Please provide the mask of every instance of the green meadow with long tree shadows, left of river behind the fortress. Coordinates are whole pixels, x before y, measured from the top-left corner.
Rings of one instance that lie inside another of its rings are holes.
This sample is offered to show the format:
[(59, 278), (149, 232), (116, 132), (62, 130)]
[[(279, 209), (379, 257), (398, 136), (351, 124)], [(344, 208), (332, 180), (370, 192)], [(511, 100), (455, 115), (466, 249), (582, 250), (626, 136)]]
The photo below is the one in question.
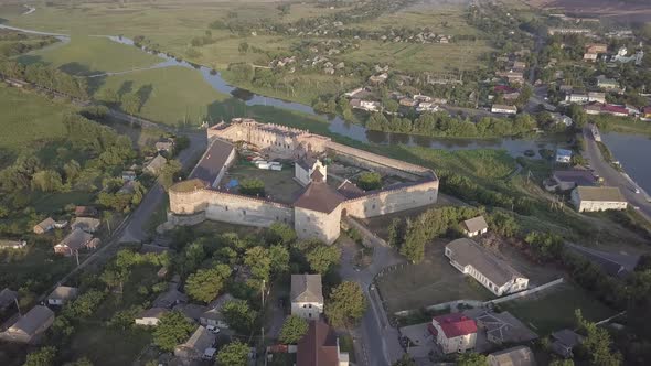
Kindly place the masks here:
[(139, 116), (166, 125), (188, 120), (198, 126), (213, 105), (226, 99), (194, 69), (172, 66), (93, 79), (95, 98), (103, 100), (107, 88), (141, 95)]

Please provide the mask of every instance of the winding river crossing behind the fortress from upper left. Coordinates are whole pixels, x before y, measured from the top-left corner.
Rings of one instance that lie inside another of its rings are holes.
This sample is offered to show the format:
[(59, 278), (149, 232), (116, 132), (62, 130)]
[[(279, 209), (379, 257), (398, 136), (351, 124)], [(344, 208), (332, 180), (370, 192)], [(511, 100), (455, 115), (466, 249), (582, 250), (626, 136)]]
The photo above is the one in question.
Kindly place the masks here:
[[(23, 30), (19, 28), (8, 26), (0, 24), (0, 28), (23, 31), (33, 34), (43, 34), (43, 35), (54, 35), (57, 36), (63, 42), (68, 42), (70, 36), (65, 34), (56, 34), (56, 33), (47, 33), (47, 32), (39, 32), (39, 31), (31, 31), (31, 30)], [(104, 35), (102, 35), (104, 36)], [(134, 46), (134, 41), (124, 37), (124, 36), (106, 36), (109, 40)], [(143, 52), (149, 52), (142, 50)], [(403, 133), (386, 133), (381, 131), (370, 131), (366, 130), (363, 126), (350, 123), (343, 120), (339, 116), (326, 116), (318, 114), (311, 106), (302, 105), (299, 103), (287, 101), (278, 98), (271, 98), (263, 95), (258, 95), (255, 93), (250, 93), (247, 90), (243, 90), (235, 86), (230, 85), (218, 72), (214, 72), (210, 67), (201, 66), (191, 64), (186, 61), (177, 61), (174, 57), (168, 56), (164, 53), (157, 53), (159, 57), (162, 58), (162, 62), (156, 64), (153, 66), (149, 66), (146, 68), (135, 69), (135, 71), (126, 71), (122, 73), (107, 73), (107, 74), (98, 74), (90, 77), (104, 76), (104, 75), (117, 75), (117, 74), (126, 74), (126, 73), (134, 73), (141, 69), (150, 69), (150, 68), (161, 68), (161, 67), (170, 67), (170, 66), (181, 66), (186, 68), (196, 69), (198, 73), (201, 73), (203, 79), (209, 83), (215, 90), (233, 95), (242, 99), (246, 103), (247, 106), (271, 106), (277, 108), (284, 108), (295, 111), (300, 111), (311, 116), (319, 116), (327, 120), (330, 123), (330, 131), (333, 133), (338, 133), (341, 136), (345, 136), (351, 138), (355, 141), (360, 142), (370, 142), (370, 143), (377, 143), (377, 144), (406, 144), (406, 146), (418, 146), (424, 148), (430, 149), (445, 149), (445, 150), (472, 150), (472, 149), (499, 149), (505, 150), (513, 157), (523, 155), (526, 150), (533, 150), (536, 157), (540, 157), (538, 150), (541, 149), (552, 149), (555, 150), (559, 147), (566, 147), (566, 143), (563, 141), (558, 141), (554, 138), (535, 138), (535, 139), (513, 139), (513, 138), (503, 138), (503, 139), (459, 139), (459, 138), (431, 138), (431, 137), (424, 137), (424, 136), (410, 136), (410, 134), (403, 134)]]

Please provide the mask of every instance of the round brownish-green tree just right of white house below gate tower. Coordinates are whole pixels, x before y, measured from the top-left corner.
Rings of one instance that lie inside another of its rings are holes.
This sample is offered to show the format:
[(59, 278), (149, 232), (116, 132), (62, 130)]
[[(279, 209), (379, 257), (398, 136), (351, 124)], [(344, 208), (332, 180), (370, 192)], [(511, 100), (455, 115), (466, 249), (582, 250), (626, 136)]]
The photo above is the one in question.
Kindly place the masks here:
[(333, 326), (354, 325), (366, 312), (366, 298), (359, 283), (344, 281), (330, 292), (326, 315)]

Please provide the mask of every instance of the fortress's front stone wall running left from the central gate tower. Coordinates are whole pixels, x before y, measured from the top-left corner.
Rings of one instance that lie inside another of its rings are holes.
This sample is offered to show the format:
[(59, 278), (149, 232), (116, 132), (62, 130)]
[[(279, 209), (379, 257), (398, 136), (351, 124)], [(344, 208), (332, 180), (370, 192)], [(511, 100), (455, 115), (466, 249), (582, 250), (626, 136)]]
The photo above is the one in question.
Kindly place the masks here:
[(170, 212), (180, 217), (203, 212), (206, 219), (263, 227), (275, 222), (294, 224), (290, 206), (210, 190), (170, 191)]

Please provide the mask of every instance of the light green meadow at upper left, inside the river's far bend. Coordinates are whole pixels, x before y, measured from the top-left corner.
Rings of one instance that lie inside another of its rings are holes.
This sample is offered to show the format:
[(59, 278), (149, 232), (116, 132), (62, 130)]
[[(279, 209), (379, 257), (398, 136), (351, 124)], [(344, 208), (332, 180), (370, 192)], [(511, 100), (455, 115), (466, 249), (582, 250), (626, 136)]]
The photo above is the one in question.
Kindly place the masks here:
[(25, 64), (43, 62), (72, 75), (125, 72), (154, 65), (162, 58), (105, 37), (76, 35), (60, 47), (34, 51), (19, 57)]

